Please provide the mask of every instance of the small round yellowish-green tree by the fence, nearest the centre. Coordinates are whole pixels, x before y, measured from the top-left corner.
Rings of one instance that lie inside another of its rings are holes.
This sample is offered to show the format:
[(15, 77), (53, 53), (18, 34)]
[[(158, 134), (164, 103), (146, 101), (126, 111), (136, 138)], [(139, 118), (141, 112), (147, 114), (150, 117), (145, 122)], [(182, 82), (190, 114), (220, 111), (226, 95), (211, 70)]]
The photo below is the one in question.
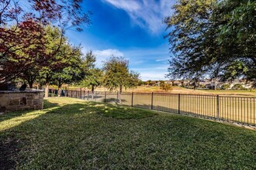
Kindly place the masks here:
[(136, 87), (139, 74), (129, 71), (129, 62), (122, 57), (112, 56), (103, 64), (104, 78), (103, 85), (109, 90), (119, 90), (122, 93), (123, 87)]

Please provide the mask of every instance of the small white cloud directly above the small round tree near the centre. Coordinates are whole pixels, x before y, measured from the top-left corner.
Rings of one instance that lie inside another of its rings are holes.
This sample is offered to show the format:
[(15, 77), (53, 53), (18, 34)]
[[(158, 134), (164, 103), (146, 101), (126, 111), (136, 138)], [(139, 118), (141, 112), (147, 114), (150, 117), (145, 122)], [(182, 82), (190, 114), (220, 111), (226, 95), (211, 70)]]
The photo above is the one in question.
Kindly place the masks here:
[(92, 53), (96, 56), (96, 66), (102, 66), (102, 62), (111, 56), (124, 56), (118, 49), (95, 50)]

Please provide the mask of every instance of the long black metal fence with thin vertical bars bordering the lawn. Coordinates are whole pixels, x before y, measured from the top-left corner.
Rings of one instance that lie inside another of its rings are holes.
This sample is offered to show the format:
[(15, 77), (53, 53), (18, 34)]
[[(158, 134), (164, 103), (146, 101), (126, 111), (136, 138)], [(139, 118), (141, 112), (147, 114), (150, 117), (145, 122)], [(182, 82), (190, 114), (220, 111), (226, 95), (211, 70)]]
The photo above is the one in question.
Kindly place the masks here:
[[(50, 97), (57, 90), (50, 90)], [(219, 95), (178, 93), (115, 93), (85, 90), (66, 90), (62, 96), (105, 103), (123, 104), (175, 114), (189, 114), (218, 121), (255, 126), (256, 97), (227, 97)]]

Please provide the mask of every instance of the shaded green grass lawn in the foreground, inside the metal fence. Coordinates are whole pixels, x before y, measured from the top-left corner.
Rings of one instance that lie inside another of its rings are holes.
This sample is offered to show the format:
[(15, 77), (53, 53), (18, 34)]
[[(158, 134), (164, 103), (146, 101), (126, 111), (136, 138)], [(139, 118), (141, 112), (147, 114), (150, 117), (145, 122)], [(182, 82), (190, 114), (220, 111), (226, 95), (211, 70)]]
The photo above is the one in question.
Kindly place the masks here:
[(0, 115), (1, 168), (255, 169), (256, 131), (55, 97)]

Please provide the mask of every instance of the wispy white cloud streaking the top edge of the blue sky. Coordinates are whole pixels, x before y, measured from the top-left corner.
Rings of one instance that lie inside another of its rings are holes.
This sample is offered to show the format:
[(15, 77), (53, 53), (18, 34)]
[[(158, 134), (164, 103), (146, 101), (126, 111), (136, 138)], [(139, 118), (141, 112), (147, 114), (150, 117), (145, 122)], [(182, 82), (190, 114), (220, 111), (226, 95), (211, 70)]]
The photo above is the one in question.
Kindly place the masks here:
[(105, 0), (105, 2), (124, 10), (132, 21), (143, 29), (157, 33), (164, 28), (164, 17), (171, 15), (175, 0)]

